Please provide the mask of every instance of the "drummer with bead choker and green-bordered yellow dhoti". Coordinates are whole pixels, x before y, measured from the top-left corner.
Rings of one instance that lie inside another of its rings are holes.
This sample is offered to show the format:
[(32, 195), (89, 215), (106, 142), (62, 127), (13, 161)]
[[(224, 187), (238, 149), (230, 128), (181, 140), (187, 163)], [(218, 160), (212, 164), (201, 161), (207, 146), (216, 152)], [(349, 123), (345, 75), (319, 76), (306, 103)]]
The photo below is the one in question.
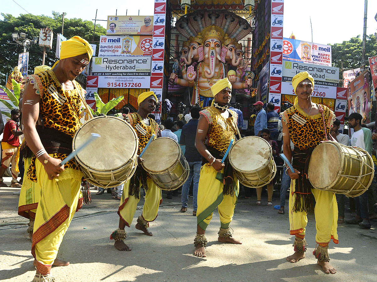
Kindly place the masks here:
[[(242, 244), (232, 237), (229, 224), (233, 218), (236, 206), (239, 183), (233, 174), (231, 165), (226, 161), (221, 163), (224, 152), (231, 139), (234, 138), (237, 127), (237, 114), (229, 110), (231, 98), (231, 83), (228, 78), (218, 80), (211, 87), (214, 103), (200, 112), (196, 132), (195, 147), (203, 156), (203, 166), (200, 171), (198, 187), (197, 232), (194, 239), (194, 255), (205, 257), (205, 229), (212, 219), (212, 213), (218, 208), (221, 227), (218, 241), (222, 243)], [(208, 146), (205, 145), (209, 136)], [(218, 177), (218, 174), (220, 176)], [(223, 181), (225, 180), (225, 184)]]

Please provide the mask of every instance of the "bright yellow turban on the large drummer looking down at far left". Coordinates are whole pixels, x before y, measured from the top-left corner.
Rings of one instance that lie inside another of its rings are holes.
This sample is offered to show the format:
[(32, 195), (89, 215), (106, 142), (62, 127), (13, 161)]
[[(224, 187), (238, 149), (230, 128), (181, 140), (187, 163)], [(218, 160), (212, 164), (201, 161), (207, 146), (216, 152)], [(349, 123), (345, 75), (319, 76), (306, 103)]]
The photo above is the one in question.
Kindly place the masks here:
[[(66, 41), (61, 42), (60, 59), (72, 58), (78, 55), (88, 54), (89, 61), (93, 56), (93, 49), (89, 42), (80, 36), (74, 36)], [(52, 66), (54, 68), (59, 61)]]

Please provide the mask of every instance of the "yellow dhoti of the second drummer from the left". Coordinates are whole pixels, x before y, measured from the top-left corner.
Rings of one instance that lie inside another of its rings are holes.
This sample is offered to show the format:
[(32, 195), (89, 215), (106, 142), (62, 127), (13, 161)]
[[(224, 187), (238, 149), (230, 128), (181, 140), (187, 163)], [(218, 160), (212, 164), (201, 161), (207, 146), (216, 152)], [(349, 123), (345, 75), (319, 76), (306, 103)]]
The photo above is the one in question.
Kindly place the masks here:
[[(145, 202), (141, 216), (144, 218), (145, 221), (148, 221), (149, 226), (149, 222), (155, 220), (157, 217), (158, 207), (162, 203), (162, 193), (161, 189), (157, 187), (157, 185), (153, 182), (152, 179), (147, 179), (147, 186), (148, 189), (145, 193)], [(130, 224), (132, 223), (137, 205), (140, 201), (140, 195), (138, 199), (135, 197), (135, 195), (130, 196), (129, 191), (130, 180), (128, 180), (124, 184), (123, 194), (118, 209), (118, 215), (120, 216), (121, 220), (123, 220), (126, 223), (126, 226), (128, 227), (130, 227)]]

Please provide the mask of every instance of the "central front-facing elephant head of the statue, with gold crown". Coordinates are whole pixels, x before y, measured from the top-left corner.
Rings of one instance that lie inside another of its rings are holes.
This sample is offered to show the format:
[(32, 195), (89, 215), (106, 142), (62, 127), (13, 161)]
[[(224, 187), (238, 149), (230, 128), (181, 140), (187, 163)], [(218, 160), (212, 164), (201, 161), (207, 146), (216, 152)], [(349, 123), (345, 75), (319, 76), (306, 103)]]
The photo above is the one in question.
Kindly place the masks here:
[(209, 65), (209, 69), (204, 71), (206, 78), (215, 76), (216, 65), (225, 61), (226, 47), (222, 48), (221, 41), (224, 38), (224, 30), (221, 27), (212, 25), (202, 30), (204, 38), (204, 62)]

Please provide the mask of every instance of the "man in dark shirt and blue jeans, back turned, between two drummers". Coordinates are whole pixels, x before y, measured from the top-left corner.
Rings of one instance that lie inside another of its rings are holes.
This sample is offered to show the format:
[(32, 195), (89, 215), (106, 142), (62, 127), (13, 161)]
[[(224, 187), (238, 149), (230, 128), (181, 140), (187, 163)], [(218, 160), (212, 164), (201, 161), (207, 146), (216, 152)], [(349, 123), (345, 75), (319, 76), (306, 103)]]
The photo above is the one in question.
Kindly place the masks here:
[(199, 112), (202, 109), (199, 106), (194, 106), (190, 110), (192, 120), (186, 123), (181, 132), (181, 138), (179, 140), (179, 145), (185, 146), (185, 158), (189, 163), (190, 173), (189, 178), (182, 186), (182, 208), (181, 212), (187, 211), (187, 202), (189, 200), (189, 189), (192, 179), (194, 179), (193, 185), (193, 213), (196, 216), (196, 209), (198, 208), (198, 185), (199, 185), (199, 174), (202, 167), (202, 155), (196, 150), (195, 147), (195, 137), (196, 128), (198, 127)]

